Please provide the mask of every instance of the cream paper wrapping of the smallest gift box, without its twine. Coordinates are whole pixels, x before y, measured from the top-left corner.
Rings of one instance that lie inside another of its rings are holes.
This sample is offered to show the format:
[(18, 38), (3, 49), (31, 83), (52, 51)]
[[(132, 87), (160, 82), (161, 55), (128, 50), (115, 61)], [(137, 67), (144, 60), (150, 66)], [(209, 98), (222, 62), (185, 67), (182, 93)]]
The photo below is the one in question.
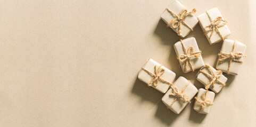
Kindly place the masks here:
[[(200, 88), (197, 92), (196, 98), (199, 98), (199, 99), (203, 100), (202, 95), (205, 94), (205, 92), (207, 92), (207, 90), (205, 90), (203, 88)], [(209, 101), (211, 101), (211, 103), (213, 103), (214, 96), (215, 96), (215, 94), (213, 92), (208, 91), (207, 96), (206, 96), (206, 100), (210, 99)], [(193, 108), (198, 113), (208, 114), (211, 110), (211, 105), (208, 105), (208, 106), (206, 106), (205, 108), (203, 108), (201, 110), (201, 103), (199, 101), (195, 101), (195, 104), (194, 104)]]

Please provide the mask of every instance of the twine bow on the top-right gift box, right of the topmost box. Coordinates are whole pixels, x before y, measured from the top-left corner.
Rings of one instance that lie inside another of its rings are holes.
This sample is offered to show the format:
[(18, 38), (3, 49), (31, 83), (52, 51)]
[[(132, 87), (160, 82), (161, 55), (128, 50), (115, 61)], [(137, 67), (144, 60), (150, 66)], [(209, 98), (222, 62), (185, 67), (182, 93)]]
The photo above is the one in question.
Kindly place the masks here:
[(223, 20), (221, 16), (216, 17), (216, 19), (214, 19), (214, 21), (212, 21), (212, 19), (211, 19), (210, 15), (208, 14), (208, 12), (206, 12), (206, 13), (207, 13), (207, 15), (208, 15), (208, 17), (209, 17), (209, 19), (211, 21), (211, 24), (205, 26), (204, 33), (211, 32), (211, 35), (209, 37), (209, 39), (210, 39), (212, 37), (213, 32), (216, 31), (220, 35), (221, 39), (224, 40), (225, 38), (223, 37), (222, 34), (220, 34), (220, 31), (219, 31), (218, 28), (226, 25), (228, 22), (226, 20)]

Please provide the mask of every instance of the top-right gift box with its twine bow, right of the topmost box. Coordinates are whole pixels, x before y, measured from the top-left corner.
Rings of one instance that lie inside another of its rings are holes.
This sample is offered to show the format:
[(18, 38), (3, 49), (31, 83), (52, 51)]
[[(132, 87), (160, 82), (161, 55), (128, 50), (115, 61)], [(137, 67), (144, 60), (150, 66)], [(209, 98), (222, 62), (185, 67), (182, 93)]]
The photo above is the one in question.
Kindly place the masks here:
[(222, 18), (217, 7), (199, 15), (197, 18), (210, 44), (218, 43), (230, 35), (227, 21)]

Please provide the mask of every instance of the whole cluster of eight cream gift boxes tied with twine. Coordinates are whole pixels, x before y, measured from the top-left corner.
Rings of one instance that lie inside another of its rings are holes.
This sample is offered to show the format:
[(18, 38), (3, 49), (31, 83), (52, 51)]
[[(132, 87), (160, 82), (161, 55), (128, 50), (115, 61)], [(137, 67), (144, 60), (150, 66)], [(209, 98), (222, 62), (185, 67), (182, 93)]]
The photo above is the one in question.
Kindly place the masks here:
[(176, 114), (191, 103), (193, 98), (195, 98), (194, 110), (201, 114), (208, 114), (213, 105), (215, 93), (220, 92), (228, 80), (222, 72), (238, 75), (243, 57), (246, 57), (244, 56), (245, 44), (226, 39), (230, 31), (227, 21), (222, 18), (217, 7), (197, 18), (192, 15), (195, 12), (196, 10), (189, 12), (180, 2), (174, 1), (164, 10), (161, 19), (182, 38), (186, 37), (199, 22), (210, 44), (223, 41), (216, 69), (204, 64), (202, 52), (195, 38), (187, 38), (174, 44), (182, 71), (187, 73), (200, 69), (196, 79), (202, 83), (204, 88), (197, 89), (189, 80), (181, 76), (174, 81), (175, 72), (152, 59), (147, 60), (138, 74), (138, 79), (164, 93), (162, 102)]

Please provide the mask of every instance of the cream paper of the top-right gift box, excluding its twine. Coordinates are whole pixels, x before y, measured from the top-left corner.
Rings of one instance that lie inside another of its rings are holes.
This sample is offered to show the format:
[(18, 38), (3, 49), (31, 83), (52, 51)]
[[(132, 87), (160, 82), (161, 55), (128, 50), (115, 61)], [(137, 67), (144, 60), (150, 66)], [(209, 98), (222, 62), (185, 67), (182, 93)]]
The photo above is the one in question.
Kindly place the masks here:
[[(207, 13), (209, 14), (210, 17), (208, 16)], [(218, 17), (218, 16), (222, 17), (217, 7), (214, 7), (211, 10), (208, 10), (207, 13), (205, 12), (205, 13), (197, 16), (197, 19), (199, 20), (199, 24), (200, 24), (203, 32), (205, 32), (204, 28), (211, 24), (211, 21), (209, 18), (211, 18), (212, 21), (214, 21), (216, 19), (216, 17)], [(223, 20), (223, 18), (222, 18), (222, 20)], [(219, 23), (220, 23), (219, 25), (221, 25), (224, 22), (221, 21)], [(230, 31), (229, 31), (227, 25), (223, 25), (223, 26), (219, 27), (218, 30), (224, 38), (226, 38), (226, 37), (228, 37), (228, 35), (230, 35)], [(211, 32), (205, 33), (205, 36), (207, 37), (210, 44), (214, 44), (214, 43), (220, 42), (221, 40), (224, 40), (221, 38), (220, 34), (215, 29), (213, 31), (211, 38), (209, 38), (211, 35)]]

